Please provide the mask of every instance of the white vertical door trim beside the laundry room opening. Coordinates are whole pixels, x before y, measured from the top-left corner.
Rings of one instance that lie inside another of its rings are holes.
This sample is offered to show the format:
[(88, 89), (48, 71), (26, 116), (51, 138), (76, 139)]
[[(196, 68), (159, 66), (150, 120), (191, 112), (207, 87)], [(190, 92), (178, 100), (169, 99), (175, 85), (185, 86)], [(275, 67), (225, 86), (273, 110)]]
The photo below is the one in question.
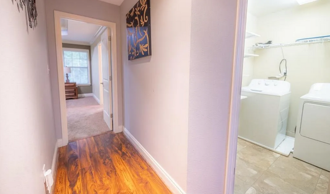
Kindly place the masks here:
[(225, 194), (234, 193), (235, 168), (237, 156), (237, 139), (239, 113), (241, 105), (242, 73), (244, 60), (245, 28), (247, 17), (247, 0), (237, 0), (236, 35), (233, 64), (232, 93), (230, 101), (229, 128), (227, 137), (227, 161), (225, 173)]

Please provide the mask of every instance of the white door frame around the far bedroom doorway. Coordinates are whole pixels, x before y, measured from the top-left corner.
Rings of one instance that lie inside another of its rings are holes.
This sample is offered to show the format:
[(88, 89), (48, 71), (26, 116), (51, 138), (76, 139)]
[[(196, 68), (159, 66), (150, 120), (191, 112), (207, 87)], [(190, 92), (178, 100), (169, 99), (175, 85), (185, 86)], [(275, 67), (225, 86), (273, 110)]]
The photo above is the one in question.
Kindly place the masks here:
[(98, 20), (94, 18), (84, 17), (75, 14), (69, 14), (60, 11), (54, 11), (55, 22), (55, 41), (56, 41), (56, 59), (57, 59), (57, 78), (58, 78), (58, 94), (60, 101), (60, 114), (61, 114), (61, 128), (62, 128), (62, 145), (69, 143), (68, 138), (68, 120), (67, 120), (67, 107), (65, 103), (65, 88), (64, 88), (64, 70), (63, 70), (63, 52), (62, 52), (62, 36), (60, 18), (71, 19), (81, 22), (93, 23), (97, 25), (107, 26), (110, 29), (111, 36), (111, 76), (112, 76), (112, 113), (113, 113), (113, 131), (115, 133), (122, 132), (119, 127), (118, 115), (118, 72), (117, 72), (117, 28), (116, 23)]

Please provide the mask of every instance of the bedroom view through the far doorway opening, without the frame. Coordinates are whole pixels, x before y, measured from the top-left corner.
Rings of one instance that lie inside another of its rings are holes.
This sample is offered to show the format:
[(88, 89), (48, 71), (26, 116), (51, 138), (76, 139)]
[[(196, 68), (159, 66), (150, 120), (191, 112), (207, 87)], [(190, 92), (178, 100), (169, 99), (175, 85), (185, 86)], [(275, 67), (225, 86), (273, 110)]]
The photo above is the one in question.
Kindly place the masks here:
[(103, 74), (111, 65), (107, 27), (61, 18), (61, 37), (69, 141), (111, 131), (112, 102), (103, 100), (111, 82)]

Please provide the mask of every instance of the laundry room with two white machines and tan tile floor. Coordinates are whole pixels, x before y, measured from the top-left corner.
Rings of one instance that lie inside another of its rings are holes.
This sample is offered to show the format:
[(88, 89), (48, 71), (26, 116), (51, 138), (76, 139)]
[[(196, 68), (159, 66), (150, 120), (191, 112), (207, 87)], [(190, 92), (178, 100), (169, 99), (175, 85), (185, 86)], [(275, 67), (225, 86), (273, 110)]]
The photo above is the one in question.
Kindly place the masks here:
[(249, 0), (235, 193), (326, 194), (330, 1)]

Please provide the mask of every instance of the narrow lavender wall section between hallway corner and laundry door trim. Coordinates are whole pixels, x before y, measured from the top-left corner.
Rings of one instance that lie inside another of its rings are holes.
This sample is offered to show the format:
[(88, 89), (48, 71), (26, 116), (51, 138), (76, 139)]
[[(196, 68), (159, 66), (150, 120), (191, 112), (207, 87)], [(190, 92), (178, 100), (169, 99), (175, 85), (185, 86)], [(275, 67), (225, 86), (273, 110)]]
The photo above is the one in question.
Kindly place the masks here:
[(192, 0), (187, 193), (223, 193), (237, 1)]

